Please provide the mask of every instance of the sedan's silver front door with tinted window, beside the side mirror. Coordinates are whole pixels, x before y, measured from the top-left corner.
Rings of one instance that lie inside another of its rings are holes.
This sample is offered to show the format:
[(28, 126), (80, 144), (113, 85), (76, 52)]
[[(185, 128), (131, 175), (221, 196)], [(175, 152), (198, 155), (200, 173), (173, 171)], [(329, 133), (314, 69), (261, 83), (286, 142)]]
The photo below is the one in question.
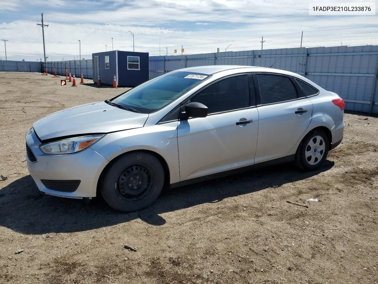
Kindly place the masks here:
[(179, 122), (181, 181), (254, 164), (259, 115), (248, 77), (221, 79), (188, 101), (206, 105), (208, 116)]

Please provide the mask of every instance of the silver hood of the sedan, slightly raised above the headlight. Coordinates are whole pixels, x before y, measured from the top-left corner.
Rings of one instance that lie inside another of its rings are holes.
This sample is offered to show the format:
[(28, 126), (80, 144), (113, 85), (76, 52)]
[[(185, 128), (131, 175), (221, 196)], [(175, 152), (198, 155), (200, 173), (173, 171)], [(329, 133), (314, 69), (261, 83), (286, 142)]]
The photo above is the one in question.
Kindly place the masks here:
[(90, 133), (109, 133), (143, 127), (148, 114), (108, 105), (104, 101), (54, 112), (34, 122), (38, 137), (46, 139)]

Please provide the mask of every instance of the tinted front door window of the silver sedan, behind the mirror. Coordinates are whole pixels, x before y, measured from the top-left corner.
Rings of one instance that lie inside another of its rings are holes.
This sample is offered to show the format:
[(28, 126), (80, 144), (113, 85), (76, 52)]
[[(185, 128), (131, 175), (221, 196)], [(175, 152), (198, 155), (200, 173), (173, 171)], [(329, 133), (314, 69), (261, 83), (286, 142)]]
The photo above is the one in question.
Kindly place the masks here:
[(199, 92), (190, 102), (204, 104), (208, 107), (208, 114), (248, 108), (248, 76), (239, 75), (218, 81)]

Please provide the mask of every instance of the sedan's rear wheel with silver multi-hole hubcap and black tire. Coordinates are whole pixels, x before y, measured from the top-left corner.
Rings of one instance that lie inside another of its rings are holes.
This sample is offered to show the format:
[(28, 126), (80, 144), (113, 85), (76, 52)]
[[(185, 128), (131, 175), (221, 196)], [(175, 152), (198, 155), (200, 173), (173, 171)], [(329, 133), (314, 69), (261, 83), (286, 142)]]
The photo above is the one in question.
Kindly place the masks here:
[(327, 159), (328, 150), (327, 134), (322, 130), (313, 130), (299, 144), (295, 154), (295, 163), (304, 171), (317, 170)]

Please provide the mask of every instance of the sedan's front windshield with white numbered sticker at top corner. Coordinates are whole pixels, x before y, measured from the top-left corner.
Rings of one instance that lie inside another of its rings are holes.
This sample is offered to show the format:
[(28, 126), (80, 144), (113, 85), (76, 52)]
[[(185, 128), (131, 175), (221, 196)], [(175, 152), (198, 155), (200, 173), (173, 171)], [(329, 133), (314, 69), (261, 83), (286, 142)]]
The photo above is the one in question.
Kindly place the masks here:
[(170, 72), (119, 95), (112, 103), (149, 114), (168, 105), (209, 77), (208, 74), (194, 72)]

